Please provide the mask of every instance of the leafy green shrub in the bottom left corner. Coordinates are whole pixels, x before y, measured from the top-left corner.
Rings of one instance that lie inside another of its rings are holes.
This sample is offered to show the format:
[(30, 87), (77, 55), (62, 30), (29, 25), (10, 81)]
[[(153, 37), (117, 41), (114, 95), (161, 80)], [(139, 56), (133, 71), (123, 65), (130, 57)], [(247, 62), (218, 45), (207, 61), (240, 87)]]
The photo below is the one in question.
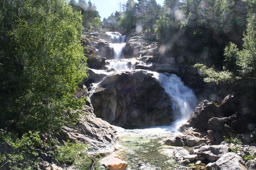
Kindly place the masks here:
[[(4, 154), (0, 156), (0, 165), (10, 169), (24, 169), (32, 166), (38, 156), (37, 148), (42, 143), (39, 132), (29, 131), (19, 139), (13, 134), (0, 135)], [(30, 161), (32, 162), (30, 162)]]

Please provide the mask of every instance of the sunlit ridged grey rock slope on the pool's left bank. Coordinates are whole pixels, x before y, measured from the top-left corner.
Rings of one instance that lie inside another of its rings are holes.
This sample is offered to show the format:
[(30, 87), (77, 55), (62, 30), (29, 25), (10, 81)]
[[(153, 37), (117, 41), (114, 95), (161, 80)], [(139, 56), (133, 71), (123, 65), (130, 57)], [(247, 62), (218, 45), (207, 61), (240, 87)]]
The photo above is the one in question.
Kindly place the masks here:
[[(88, 99), (90, 101), (90, 99)], [(97, 118), (90, 105), (84, 106), (80, 120), (71, 127), (62, 127), (60, 140), (84, 142), (90, 152), (106, 153), (116, 150), (118, 137), (115, 127)]]

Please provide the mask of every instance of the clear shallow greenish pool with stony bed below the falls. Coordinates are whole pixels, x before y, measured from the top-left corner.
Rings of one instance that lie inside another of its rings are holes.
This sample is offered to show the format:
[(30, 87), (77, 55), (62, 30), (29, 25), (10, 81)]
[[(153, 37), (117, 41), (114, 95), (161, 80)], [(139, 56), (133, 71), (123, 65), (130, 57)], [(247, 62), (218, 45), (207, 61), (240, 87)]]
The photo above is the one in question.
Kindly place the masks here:
[(166, 138), (174, 138), (179, 132), (173, 127), (161, 126), (149, 129), (126, 130), (120, 138), (120, 155), (128, 163), (126, 170), (199, 170), (194, 164), (176, 162), (175, 147), (164, 145)]

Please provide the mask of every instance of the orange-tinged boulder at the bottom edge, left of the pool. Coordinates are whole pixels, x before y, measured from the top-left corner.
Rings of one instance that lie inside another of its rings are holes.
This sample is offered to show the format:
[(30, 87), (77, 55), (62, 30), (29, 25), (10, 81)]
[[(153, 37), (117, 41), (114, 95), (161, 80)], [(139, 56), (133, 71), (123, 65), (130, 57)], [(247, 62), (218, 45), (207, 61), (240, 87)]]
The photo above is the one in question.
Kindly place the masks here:
[(108, 168), (108, 170), (126, 170), (127, 162), (125, 162), (120, 156), (116, 154), (110, 154), (109, 156), (100, 160), (100, 164)]

